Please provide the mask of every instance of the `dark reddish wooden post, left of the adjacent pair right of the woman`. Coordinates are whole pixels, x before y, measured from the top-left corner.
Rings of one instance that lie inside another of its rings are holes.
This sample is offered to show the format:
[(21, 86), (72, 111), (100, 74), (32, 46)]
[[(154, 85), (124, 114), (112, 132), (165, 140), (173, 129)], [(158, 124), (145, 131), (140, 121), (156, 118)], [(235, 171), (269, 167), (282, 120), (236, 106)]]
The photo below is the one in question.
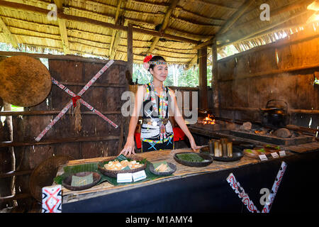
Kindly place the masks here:
[(208, 96), (207, 96), (207, 48), (201, 48), (198, 51), (199, 60), (199, 94), (198, 94), (198, 107), (201, 109), (208, 109)]

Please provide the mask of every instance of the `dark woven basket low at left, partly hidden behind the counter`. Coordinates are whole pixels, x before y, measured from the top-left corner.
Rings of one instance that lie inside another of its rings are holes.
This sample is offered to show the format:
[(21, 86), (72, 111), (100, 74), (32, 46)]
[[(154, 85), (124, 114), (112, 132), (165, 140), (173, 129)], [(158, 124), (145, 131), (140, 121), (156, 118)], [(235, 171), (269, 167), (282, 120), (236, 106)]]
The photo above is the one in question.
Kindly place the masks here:
[(29, 187), (31, 195), (36, 200), (42, 201), (42, 188), (53, 184), (58, 168), (60, 165), (65, 165), (69, 160), (74, 160), (74, 158), (52, 156), (35, 167), (30, 176)]

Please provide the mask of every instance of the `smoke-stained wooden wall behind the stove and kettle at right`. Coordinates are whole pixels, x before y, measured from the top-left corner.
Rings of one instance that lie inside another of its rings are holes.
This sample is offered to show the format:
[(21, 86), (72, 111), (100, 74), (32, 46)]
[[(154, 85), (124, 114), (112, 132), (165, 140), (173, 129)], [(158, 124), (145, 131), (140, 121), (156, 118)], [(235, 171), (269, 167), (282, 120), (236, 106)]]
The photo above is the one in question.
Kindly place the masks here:
[[(261, 121), (259, 112), (251, 108), (264, 108), (270, 99), (282, 99), (294, 110), (291, 124), (308, 127), (311, 119), (311, 128), (317, 128), (317, 113), (298, 113), (319, 110), (319, 86), (313, 84), (319, 72), (319, 38), (318, 31), (308, 29), (291, 35), (289, 43), (278, 42), (219, 60), (220, 116)], [(208, 103), (213, 109), (213, 103)]]

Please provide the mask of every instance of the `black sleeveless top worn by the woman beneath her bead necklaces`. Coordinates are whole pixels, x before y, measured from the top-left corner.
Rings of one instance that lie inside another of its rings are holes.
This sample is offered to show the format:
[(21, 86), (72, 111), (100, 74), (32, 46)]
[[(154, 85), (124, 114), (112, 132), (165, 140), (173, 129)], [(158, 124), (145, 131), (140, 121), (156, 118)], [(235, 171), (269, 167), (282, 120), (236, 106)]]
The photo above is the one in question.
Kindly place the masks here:
[[(159, 96), (157, 96), (157, 94), (155, 94), (156, 97), (156, 104), (157, 104), (157, 112), (153, 111), (153, 105), (152, 105), (152, 101), (151, 101), (151, 97), (150, 97), (150, 91), (151, 91), (151, 87), (150, 84), (146, 84), (148, 87), (148, 97), (145, 101), (143, 101), (143, 115), (142, 118), (159, 118)], [(167, 94), (166, 96), (166, 101), (167, 101), (167, 111), (166, 111), (166, 115), (165, 118), (168, 118), (169, 115), (169, 102), (170, 102), (170, 95), (169, 95), (169, 90), (167, 89), (167, 87), (165, 88), (165, 92)]]

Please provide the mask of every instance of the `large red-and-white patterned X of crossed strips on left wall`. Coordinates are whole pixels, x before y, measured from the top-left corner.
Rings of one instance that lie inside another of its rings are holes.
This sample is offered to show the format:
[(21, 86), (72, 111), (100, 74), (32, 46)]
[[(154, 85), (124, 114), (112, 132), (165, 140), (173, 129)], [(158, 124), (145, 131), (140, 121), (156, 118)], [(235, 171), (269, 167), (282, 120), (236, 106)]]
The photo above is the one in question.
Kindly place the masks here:
[[(99, 77), (101, 77), (101, 74), (103, 74), (103, 72), (105, 72), (108, 67), (110, 67), (113, 64), (113, 60), (110, 60), (106, 63), (106, 65), (103, 66), (103, 68), (101, 68), (101, 70), (96, 73), (96, 75), (94, 77), (92, 77), (92, 79), (82, 88), (82, 90), (78, 93), (78, 94), (74, 94), (74, 92), (72, 92), (71, 90), (67, 89), (67, 87), (65, 87), (65, 85), (60, 84), (60, 82), (57, 82), (57, 80), (55, 80), (53, 77), (51, 77), (51, 81), (57, 85), (57, 87), (60, 87), (63, 91), (67, 92), (67, 94), (69, 94), (72, 97), (76, 97), (76, 96), (82, 96), (84, 94), (84, 92), (86, 92), (87, 89), (89, 89), (89, 87), (91, 87), (91, 85), (96, 82), (96, 79), (99, 79)], [(94, 109), (93, 106), (89, 105), (88, 103), (86, 103), (86, 101), (84, 101), (83, 99), (79, 99), (80, 103), (83, 104), (84, 106), (86, 106), (90, 111), (94, 112), (94, 114), (97, 114), (98, 116), (100, 116), (101, 118), (103, 118), (103, 120), (107, 121), (108, 123), (111, 123), (111, 125), (114, 128), (118, 128), (118, 126), (113, 123), (110, 119), (108, 119), (106, 116), (104, 116), (103, 114), (101, 114), (101, 112), (97, 111), (96, 109)], [(67, 106), (65, 106), (65, 108), (62, 109), (62, 111), (60, 111), (60, 113), (47, 125), (47, 127), (45, 127), (45, 129), (38, 135), (37, 138), (35, 138), (36, 141), (40, 141), (43, 136), (45, 135), (45, 133), (47, 133), (47, 131), (49, 131), (52, 126), (57, 123), (57, 121), (60, 120), (60, 118), (65, 115), (67, 113), (67, 111), (69, 110), (69, 108), (72, 106), (73, 101), (69, 101), (69, 103), (67, 104)]]

